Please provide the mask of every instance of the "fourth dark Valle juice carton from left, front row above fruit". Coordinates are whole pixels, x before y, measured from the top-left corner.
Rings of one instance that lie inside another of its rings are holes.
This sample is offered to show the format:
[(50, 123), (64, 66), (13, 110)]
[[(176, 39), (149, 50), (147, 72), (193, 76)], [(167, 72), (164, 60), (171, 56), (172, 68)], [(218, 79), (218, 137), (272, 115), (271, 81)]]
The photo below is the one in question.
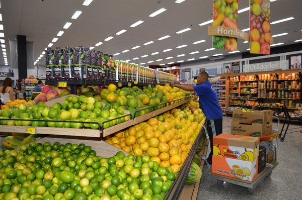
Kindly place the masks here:
[(77, 79), (84, 78), (85, 68), (85, 49), (80, 47), (73, 48), (73, 77)]

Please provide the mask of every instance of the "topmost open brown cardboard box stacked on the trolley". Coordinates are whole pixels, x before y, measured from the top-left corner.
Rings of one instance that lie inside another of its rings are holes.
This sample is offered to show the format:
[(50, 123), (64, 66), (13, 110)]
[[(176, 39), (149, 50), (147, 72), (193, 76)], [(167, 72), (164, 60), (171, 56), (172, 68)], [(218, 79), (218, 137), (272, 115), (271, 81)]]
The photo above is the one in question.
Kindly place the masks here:
[(273, 111), (254, 111), (254, 113), (244, 113), (240, 109), (233, 110), (233, 122), (243, 124), (272, 124)]

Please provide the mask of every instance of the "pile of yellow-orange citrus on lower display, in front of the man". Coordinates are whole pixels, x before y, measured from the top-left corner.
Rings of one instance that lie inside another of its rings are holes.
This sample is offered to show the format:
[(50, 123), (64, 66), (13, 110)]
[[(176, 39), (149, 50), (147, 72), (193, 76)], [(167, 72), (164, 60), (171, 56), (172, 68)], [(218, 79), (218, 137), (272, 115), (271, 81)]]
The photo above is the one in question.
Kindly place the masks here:
[(177, 173), (188, 157), (204, 122), (201, 109), (195, 114), (188, 108), (173, 109), (125, 131), (119, 131), (106, 142), (135, 156), (149, 155), (152, 161), (157, 161), (163, 167), (171, 167)]

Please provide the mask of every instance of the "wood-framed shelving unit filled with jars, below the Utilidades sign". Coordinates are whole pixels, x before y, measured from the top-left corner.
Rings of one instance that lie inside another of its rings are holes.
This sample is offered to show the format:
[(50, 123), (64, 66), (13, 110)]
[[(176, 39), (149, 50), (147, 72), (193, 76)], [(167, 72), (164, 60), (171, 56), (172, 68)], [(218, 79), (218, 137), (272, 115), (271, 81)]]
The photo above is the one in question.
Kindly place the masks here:
[[(227, 111), (234, 107), (253, 110), (301, 110), (302, 69), (217, 74), (226, 77)], [(226, 112), (231, 114), (230, 112)]]

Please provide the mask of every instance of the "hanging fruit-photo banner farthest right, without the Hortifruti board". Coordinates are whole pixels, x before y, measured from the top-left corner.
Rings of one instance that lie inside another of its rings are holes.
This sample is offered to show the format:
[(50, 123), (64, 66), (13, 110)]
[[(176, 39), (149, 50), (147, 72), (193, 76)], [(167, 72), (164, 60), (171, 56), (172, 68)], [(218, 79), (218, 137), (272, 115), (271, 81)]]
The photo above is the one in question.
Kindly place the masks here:
[(270, 55), (270, 1), (250, 0), (250, 53)]

